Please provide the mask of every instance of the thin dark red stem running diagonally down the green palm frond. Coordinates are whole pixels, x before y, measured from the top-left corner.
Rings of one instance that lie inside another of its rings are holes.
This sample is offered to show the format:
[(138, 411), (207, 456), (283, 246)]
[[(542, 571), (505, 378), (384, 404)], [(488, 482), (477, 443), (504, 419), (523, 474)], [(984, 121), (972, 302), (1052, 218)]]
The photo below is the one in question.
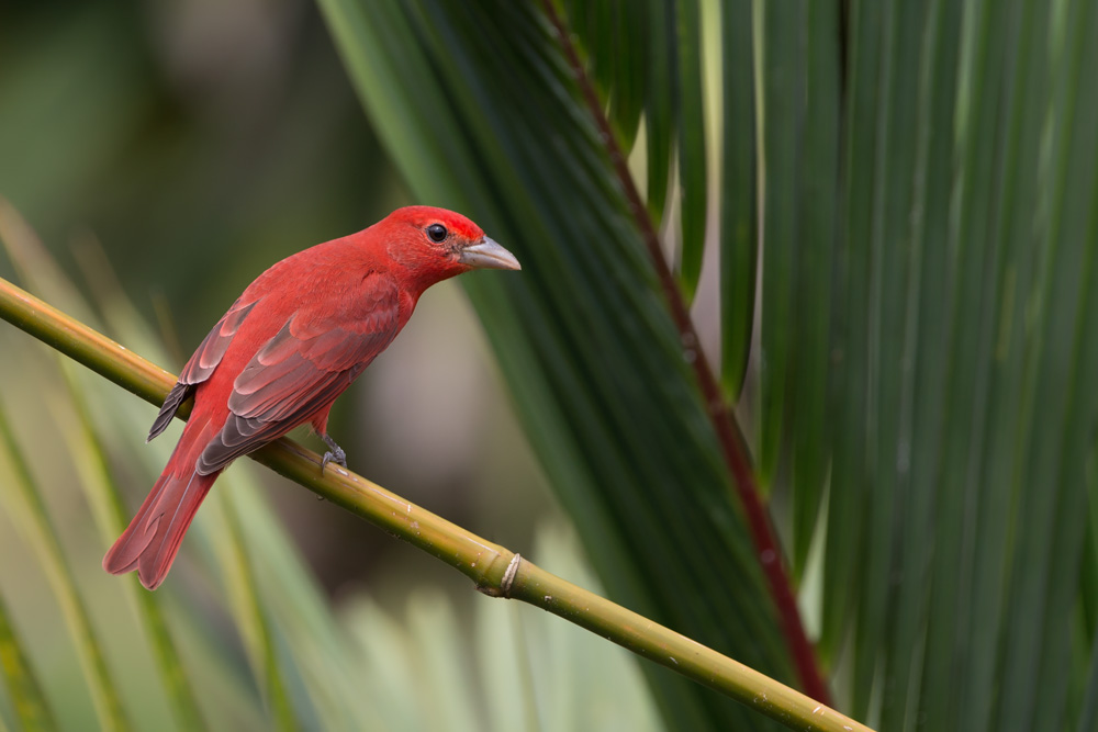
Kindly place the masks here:
[(804, 624), (800, 622), (800, 612), (797, 609), (796, 598), (793, 595), (789, 576), (782, 563), (782, 552), (778, 550), (777, 538), (774, 534), (770, 517), (763, 507), (739, 425), (736, 423), (736, 417), (732, 415), (731, 408), (720, 392), (720, 386), (714, 378), (708, 360), (701, 352), (701, 341), (698, 340), (697, 331), (694, 329), (694, 323), (691, 320), (686, 303), (663, 257), (660, 237), (656, 232), (648, 210), (641, 201), (640, 192), (637, 190), (637, 185), (629, 172), (625, 155), (618, 145), (617, 137), (610, 129), (609, 121), (606, 119), (603, 105), (598, 101), (598, 94), (591, 81), (591, 77), (580, 60), (579, 52), (571, 41), (568, 27), (557, 13), (552, 0), (541, 0), (541, 4), (545, 8), (546, 16), (556, 30), (557, 38), (568, 59), (569, 67), (575, 76), (576, 82), (580, 85), (580, 91), (586, 102), (589, 112), (594, 117), (595, 124), (598, 126), (598, 132), (606, 144), (610, 162), (614, 165), (614, 171), (626, 194), (629, 212), (640, 228), (645, 246), (659, 277), (664, 299), (671, 308), (671, 317), (679, 329), (679, 338), (683, 349), (685, 352), (693, 354), (693, 358), (688, 358), (687, 360), (694, 367), (694, 373), (702, 390), (702, 396), (705, 399), (706, 410), (720, 441), (721, 454), (728, 470), (732, 474), (737, 493), (743, 505), (748, 525), (751, 528), (751, 538), (754, 541), (755, 551), (758, 552), (759, 564), (766, 576), (771, 596), (777, 607), (782, 629), (789, 645), (789, 652), (796, 665), (797, 674), (800, 677), (800, 686), (805, 694), (830, 706), (831, 695), (816, 664), (816, 652), (808, 640), (808, 635), (805, 633)]

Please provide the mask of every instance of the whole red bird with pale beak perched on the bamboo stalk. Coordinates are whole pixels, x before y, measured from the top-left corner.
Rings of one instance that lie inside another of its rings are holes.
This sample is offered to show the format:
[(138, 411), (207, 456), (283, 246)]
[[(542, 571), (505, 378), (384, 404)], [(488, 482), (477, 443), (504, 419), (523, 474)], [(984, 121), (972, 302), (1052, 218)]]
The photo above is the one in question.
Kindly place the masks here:
[(373, 226), (321, 244), (259, 275), (183, 367), (148, 439), (183, 401), (183, 435), (133, 521), (107, 556), (112, 574), (137, 570), (148, 589), (164, 582), (194, 513), (231, 462), (294, 427), (312, 424), (330, 448), (332, 403), (392, 342), (419, 295), (471, 269), (520, 269), (464, 216), (399, 209)]

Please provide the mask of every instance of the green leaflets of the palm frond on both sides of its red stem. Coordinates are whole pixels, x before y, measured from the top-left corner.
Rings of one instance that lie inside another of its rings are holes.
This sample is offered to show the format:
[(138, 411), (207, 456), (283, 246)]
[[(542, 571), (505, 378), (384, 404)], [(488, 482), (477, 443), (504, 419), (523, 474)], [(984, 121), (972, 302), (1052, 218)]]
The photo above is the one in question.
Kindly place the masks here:
[[(469, 291), (615, 597), (789, 674), (683, 368), (691, 345), (592, 122), (607, 114), (631, 146), (636, 104), (614, 100), (642, 98), (635, 155), (657, 224), (681, 184), (665, 184), (669, 161), (693, 176), (721, 156), (708, 206), (721, 216), (722, 382), (738, 394), (753, 376), (758, 475), (797, 574), (822, 579), (803, 599), (849, 709), (885, 729), (1075, 723), (1094, 633), (1072, 618), (1080, 600), (1094, 615), (1080, 588), (1096, 565), (1084, 533), (1098, 404), (1082, 381), (1098, 326), (1094, 3), (721, 3), (718, 150), (671, 132), (697, 126), (676, 66), (698, 42), (684, 3), (632, 3), (632, 16), (560, 3), (605, 112), (537, 3), (322, 7), (412, 189), (469, 211), (526, 266)], [(684, 295), (691, 226), (673, 260)], [(699, 581), (699, 566), (720, 577)], [(684, 725), (735, 719), (653, 683)]]

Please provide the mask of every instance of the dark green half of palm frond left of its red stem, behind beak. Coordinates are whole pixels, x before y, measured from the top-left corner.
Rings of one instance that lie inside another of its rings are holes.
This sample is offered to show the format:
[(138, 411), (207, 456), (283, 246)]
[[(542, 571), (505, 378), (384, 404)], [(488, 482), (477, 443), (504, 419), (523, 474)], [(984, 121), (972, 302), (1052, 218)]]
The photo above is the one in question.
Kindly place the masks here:
[[(478, 280), (470, 293), (527, 433), (612, 595), (792, 678), (651, 262), (539, 10), (324, 8), (418, 196), (468, 211), (524, 263), (522, 278)], [(508, 74), (493, 71), (502, 67)], [(410, 128), (429, 137), (410, 139)], [(659, 688), (684, 729), (744, 719), (677, 679), (664, 676)]]

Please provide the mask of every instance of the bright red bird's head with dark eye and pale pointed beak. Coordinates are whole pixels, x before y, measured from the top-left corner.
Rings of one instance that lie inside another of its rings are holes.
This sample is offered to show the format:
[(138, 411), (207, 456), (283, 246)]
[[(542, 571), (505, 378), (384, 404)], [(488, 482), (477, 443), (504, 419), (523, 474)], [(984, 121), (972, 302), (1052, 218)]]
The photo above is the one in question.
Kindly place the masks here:
[(421, 289), (472, 269), (522, 269), (480, 226), (446, 209), (397, 209), (374, 227), (389, 257)]

